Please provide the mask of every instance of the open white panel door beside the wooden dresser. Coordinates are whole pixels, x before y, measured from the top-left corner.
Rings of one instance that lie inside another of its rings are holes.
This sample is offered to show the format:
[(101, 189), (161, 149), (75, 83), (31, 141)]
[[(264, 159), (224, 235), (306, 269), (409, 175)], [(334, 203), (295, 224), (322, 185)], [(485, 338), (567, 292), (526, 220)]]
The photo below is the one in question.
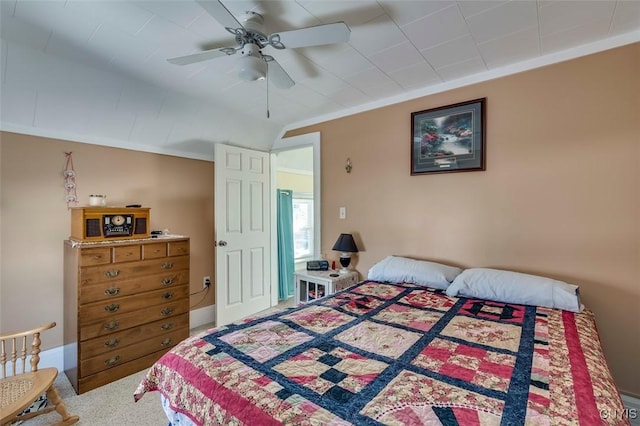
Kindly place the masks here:
[(216, 326), (269, 308), (269, 154), (215, 146)]

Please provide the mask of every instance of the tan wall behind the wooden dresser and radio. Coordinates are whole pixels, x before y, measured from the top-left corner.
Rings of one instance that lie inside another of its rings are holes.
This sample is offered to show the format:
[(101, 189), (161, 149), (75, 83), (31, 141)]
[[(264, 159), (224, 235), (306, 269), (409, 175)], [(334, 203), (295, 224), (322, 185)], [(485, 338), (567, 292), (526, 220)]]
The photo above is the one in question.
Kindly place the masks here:
[[(0, 330), (56, 321), (46, 348), (62, 345), (67, 151), (83, 205), (90, 194), (106, 194), (109, 205), (150, 207), (151, 229), (191, 238), (191, 293), (202, 289), (203, 276), (214, 276), (212, 162), (0, 133)], [(192, 309), (211, 305), (212, 289), (192, 296)]]

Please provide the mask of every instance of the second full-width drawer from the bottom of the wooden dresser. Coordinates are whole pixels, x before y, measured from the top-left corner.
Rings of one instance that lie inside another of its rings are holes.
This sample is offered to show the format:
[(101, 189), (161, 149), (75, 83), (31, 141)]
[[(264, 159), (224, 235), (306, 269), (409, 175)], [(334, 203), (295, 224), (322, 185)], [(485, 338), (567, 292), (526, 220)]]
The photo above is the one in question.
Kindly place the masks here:
[(140, 327), (111, 333), (107, 336), (97, 337), (80, 343), (82, 359), (88, 359), (105, 352), (138, 343), (143, 339), (160, 336), (169, 332), (189, 328), (189, 315), (182, 314), (160, 321), (141, 325)]

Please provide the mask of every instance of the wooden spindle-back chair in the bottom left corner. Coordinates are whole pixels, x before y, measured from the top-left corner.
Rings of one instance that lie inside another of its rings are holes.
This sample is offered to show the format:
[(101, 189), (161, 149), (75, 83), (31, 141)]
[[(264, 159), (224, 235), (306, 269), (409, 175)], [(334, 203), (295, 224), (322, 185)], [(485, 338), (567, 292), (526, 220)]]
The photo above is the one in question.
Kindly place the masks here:
[[(0, 336), (0, 425), (10, 425), (19, 420), (27, 420), (40, 414), (56, 410), (62, 420), (56, 426), (66, 426), (76, 423), (78, 416), (67, 412), (67, 407), (60, 399), (54, 381), (58, 376), (57, 368), (38, 369), (40, 362), (40, 332), (56, 326), (55, 322), (33, 330)], [(28, 351), (28, 341), (31, 340), (31, 350)], [(31, 364), (30, 371), (26, 370), (27, 358)], [(43, 393), (52, 406), (42, 410), (20, 415), (31, 406)]]

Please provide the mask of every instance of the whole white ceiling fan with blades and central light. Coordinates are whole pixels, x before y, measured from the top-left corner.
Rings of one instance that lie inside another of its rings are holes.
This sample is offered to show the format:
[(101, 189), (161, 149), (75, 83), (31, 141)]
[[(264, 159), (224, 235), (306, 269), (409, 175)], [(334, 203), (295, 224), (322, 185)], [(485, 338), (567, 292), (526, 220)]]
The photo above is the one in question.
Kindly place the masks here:
[(262, 80), (268, 73), (269, 79), (276, 87), (288, 89), (295, 84), (293, 79), (273, 56), (262, 53), (263, 48), (271, 46), (275, 49), (293, 49), (349, 41), (350, 30), (344, 22), (266, 35), (264, 19), (256, 12), (246, 12), (240, 18), (240, 23), (219, 0), (201, 0), (197, 3), (235, 36), (237, 46), (214, 48), (167, 59), (172, 64), (188, 65), (240, 52), (240, 78), (248, 81)]

